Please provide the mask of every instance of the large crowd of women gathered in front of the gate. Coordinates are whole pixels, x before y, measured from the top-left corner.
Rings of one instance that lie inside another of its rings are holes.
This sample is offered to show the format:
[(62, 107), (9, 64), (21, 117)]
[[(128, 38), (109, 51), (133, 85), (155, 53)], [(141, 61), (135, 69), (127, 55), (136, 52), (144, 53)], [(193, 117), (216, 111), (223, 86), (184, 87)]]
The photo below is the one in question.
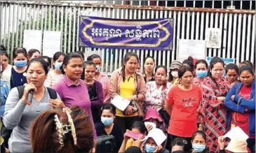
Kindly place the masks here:
[[(250, 61), (140, 66), (127, 52), (109, 78), (98, 54), (15, 48), (10, 59), (1, 45), (0, 55), (1, 152), (96, 152), (99, 136), (114, 136), (115, 152), (255, 152)], [(223, 137), (235, 127), (248, 139)]]

